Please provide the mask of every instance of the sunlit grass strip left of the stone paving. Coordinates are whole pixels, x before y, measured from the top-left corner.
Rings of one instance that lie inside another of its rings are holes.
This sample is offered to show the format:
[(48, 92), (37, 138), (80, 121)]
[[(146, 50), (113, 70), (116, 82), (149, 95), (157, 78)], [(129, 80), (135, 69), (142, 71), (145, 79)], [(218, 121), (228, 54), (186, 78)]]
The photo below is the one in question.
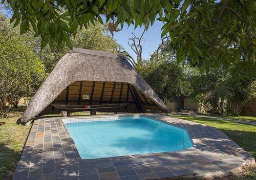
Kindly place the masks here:
[(11, 179), (14, 167), (27, 138), (30, 126), (16, 124), (25, 108), (13, 109), (7, 119), (0, 117), (0, 179)]

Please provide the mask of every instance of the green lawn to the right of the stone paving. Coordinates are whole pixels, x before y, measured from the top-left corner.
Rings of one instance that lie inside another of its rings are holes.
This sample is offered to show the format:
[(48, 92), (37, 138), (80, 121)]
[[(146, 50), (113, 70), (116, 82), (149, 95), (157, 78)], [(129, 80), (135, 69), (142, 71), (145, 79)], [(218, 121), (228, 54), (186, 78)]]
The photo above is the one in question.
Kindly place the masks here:
[[(188, 116), (174, 116), (188, 121), (205, 124), (216, 127), (224, 132), (234, 142), (238, 143), (244, 150), (249, 152), (254, 159), (256, 159), (256, 126), (242, 124), (238, 122), (225, 121), (217, 118), (206, 117), (188, 117)], [(256, 179), (256, 165), (246, 167), (243, 172), (236, 176), (221, 177), (216, 179), (238, 179), (248, 180)]]

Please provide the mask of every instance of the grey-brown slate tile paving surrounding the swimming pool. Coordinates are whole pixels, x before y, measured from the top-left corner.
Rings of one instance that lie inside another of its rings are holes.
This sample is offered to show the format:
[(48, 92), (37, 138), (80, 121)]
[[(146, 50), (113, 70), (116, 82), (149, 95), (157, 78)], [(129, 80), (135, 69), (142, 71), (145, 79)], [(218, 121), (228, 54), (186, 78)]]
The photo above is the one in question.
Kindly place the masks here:
[(239, 172), (242, 166), (254, 163), (251, 155), (219, 129), (164, 115), (143, 115), (187, 129), (194, 147), (82, 160), (60, 118), (38, 119), (31, 128), (13, 179), (141, 180), (221, 176)]

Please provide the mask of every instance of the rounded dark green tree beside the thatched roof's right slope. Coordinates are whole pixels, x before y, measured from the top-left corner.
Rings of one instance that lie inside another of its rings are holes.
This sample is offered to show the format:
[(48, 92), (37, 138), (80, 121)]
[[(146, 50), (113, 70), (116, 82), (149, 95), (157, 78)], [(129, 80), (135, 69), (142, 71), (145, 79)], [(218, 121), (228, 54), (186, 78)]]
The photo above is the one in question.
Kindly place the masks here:
[(186, 69), (175, 59), (154, 53), (136, 69), (162, 100), (174, 102), (190, 93)]

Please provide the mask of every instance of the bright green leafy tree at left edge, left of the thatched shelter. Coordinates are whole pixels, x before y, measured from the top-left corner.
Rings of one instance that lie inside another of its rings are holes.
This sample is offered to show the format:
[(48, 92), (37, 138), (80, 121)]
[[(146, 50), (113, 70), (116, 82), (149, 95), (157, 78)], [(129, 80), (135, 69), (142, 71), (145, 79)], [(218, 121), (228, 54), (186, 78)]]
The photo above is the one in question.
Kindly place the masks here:
[(30, 97), (45, 78), (44, 64), (24, 39), (0, 33), (0, 114), (22, 97)]

